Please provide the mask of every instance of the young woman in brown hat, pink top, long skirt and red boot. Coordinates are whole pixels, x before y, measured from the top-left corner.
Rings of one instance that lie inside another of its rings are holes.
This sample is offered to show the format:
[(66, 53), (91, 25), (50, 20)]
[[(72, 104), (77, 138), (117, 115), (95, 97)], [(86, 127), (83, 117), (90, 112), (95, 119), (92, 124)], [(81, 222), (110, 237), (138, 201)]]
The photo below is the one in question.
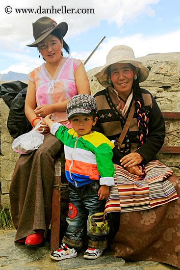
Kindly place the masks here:
[[(69, 54), (64, 41), (68, 25), (42, 17), (33, 23), (35, 41), (27, 46), (38, 48), (45, 62), (29, 74), (25, 113), (35, 127), (47, 114), (54, 122), (69, 127), (66, 113), (69, 99), (77, 94), (90, 94), (89, 81), (80, 60), (63, 57)], [(16, 163), (9, 190), (11, 213), (17, 234), (16, 243), (38, 246), (51, 221), (51, 196), (54, 161), (63, 151), (62, 143), (45, 122), (44, 142), (38, 150), (21, 155)]]

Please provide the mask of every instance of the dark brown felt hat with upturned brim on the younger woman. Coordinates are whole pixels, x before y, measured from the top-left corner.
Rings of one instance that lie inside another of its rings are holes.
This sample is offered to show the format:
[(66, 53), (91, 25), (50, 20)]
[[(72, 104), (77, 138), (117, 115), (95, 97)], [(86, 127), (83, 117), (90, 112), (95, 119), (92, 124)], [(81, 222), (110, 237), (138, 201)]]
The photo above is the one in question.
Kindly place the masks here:
[(68, 30), (68, 24), (62, 22), (57, 25), (57, 23), (49, 17), (41, 17), (35, 23), (32, 23), (33, 37), (35, 41), (26, 46), (37, 47), (37, 44), (45, 39), (54, 29), (59, 29), (62, 37), (65, 36)]

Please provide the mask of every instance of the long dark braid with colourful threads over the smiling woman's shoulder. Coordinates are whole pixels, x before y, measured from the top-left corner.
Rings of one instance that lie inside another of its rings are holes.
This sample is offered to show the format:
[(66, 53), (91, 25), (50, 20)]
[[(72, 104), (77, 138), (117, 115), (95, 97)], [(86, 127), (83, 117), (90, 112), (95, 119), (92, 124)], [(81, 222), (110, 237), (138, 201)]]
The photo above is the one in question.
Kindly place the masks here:
[(133, 81), (133, 95), (135, 101), (135, 111), (139, 127), (139, 145), (138, 148), (146, 141), (148, 135), (147, 116), (145, 114), (145, 106), (142, 98), (139, 81)]

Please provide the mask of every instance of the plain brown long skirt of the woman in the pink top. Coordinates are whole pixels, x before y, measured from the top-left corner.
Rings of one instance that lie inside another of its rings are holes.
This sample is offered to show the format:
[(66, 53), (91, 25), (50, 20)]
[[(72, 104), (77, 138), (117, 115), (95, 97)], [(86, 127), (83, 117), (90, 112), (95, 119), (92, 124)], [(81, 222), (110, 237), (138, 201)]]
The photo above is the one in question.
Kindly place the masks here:
[(45, 135), (38, 150), (21, 155), (12, 176), (9, 197), (11, 214), (17, 229), (15, 241), (47, 231), (51, 221), (54, 162), (63, 151), (56, 136)]

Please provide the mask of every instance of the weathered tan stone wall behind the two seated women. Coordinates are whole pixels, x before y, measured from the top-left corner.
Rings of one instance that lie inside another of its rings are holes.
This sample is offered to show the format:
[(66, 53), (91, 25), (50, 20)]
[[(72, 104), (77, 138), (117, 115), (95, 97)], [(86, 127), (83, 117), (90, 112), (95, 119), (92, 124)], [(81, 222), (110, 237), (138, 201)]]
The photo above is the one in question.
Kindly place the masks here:
[[(150, 76), (141, 83), (141, 87), (149, 90), (156, 99), (161, 111), (180, 111), (180, 53), (172, 54), (149, 54), (138, 58), (150, 69)], [(91, 94), (103, 89), (94, 74), (99, 68), (88, 71), (91, 86)], [(1, 184), (1, 207), (9, 204), (9, 186), (14, 171), (15, 163), (19, 154), (15, 153), (11, 144), (13, 138), (7, 129), (9, 108), (0, 99), (0, 184)], [(180, 120), (171, 120), (170, 129), (180, 127)], [(180, 131), (174, 132), (180, 136)], [(170, 135), (169, 146), (179, 146), (180, 139)], [(158, 154), (158, 158), (180, 176), (180, 154)]]

